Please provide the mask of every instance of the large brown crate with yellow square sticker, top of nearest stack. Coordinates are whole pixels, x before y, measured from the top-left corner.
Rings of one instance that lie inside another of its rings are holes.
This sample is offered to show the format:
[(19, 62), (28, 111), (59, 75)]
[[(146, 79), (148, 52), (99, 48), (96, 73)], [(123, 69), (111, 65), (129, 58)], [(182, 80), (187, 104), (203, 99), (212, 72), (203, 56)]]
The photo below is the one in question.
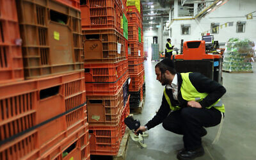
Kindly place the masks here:
[(79, 10), (55, 0), (17, 6), (26, 79), (83, 70)]

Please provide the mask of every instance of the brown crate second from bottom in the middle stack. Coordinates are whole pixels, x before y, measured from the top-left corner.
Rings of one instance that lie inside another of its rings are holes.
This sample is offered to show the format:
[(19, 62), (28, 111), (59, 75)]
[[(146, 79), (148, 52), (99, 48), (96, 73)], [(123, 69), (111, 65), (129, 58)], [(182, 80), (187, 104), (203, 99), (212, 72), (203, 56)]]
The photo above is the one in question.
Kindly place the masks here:
[(88, 122), (90, 125), (116, 125), (124, 106), (123, 88), (116, 95), (87, 96)]

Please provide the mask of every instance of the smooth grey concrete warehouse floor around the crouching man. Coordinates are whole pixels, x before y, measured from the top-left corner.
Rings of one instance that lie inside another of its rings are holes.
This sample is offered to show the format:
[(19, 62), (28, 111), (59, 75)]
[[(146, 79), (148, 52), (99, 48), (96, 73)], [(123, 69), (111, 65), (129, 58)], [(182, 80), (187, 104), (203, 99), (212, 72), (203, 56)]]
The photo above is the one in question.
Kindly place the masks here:
[[(157, 62), (145, 61), (146, 97), (141, 115), (134, 115), (144, 125), (161, 105), (164, 87), (156, 81), (154, 67)], [(207, 128), (202, 138), (205, 155), (197, 159), (256, 159), (256, 63), (253, 74), (223, 72), (223, 86), (227, 93), (222, 97), (226, 114), (220, 140), (212, 145), (218, 126)], [(176, 159), (177, 150), (183, 148), (182, 136), (158, 125), (148, 131), (147, 148), (129, 140), (127, 160)]]

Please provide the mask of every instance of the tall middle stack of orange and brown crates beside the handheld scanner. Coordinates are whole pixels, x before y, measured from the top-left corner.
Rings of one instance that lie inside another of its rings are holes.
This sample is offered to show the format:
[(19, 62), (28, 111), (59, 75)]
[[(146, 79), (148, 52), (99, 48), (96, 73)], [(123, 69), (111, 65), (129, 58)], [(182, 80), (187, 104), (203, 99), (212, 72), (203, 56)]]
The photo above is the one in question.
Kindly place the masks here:
[[(129, 108), (125, 1), (81, 1), (90, 153), (118, 154)], [(126, 38), (125, 38), (126, 37)], [(126, 91), (125, 91), (126, 89)], [(123, 115), (123, 116), (122, 116)]]

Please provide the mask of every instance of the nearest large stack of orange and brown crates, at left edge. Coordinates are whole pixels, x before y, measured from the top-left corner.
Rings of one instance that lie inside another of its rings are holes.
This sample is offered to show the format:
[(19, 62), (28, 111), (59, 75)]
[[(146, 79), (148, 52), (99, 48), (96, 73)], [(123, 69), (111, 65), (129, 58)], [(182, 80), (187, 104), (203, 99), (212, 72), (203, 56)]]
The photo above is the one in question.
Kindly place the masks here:
[(78, 7), (0, 0), (0, 159), (90, 159)]

